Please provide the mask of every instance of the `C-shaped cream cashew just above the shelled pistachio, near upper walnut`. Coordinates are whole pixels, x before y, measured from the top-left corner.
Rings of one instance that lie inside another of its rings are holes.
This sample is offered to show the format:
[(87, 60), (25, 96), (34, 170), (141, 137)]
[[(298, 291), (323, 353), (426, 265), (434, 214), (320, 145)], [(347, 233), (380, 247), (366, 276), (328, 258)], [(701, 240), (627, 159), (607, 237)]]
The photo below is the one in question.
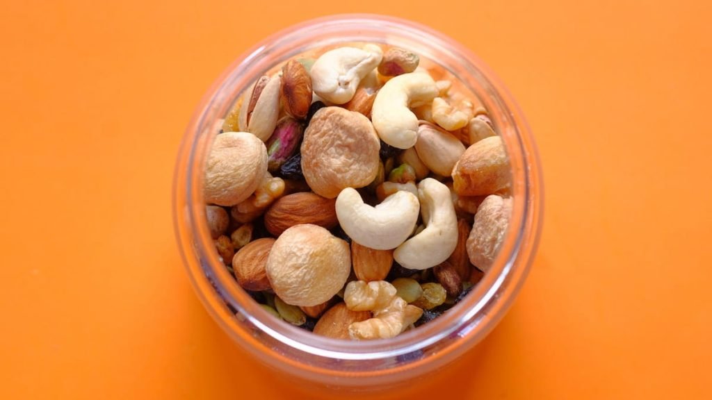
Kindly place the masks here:
[(418, 117), (408, 107), (430, 102), (437, 95), (435, 81), (425, 73), (404, 73), (386, 82), (371, 109), (378, 136), (399, 149), (413, 147), (418, 136)]

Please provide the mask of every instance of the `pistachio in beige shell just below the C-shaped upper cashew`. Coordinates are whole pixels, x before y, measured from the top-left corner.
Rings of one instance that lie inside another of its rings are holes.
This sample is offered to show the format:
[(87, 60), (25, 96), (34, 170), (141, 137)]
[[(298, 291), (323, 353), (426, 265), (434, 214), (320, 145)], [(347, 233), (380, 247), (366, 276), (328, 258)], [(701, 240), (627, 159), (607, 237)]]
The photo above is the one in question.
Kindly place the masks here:
[(465, 152), (465, 145), (450, 132), (443, 132), (428, 124), (418, 127), (415, 149), (422, 162), (436, 174), (449, 177), (452, 168)]

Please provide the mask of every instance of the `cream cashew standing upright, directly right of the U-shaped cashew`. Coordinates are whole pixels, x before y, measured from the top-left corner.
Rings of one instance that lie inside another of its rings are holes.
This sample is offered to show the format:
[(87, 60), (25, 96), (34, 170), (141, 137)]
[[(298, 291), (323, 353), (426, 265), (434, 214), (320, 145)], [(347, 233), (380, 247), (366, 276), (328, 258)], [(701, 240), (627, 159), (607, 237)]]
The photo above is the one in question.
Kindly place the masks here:
[(425, 229), (393, 252), (400, 265), (412, 270), (424, 270), (447, 260), (455, 251), (458, 236), (457, 216), (447, 186), (432, 178), (423, 179), (418, 185), (418, 197), (423, 205)]

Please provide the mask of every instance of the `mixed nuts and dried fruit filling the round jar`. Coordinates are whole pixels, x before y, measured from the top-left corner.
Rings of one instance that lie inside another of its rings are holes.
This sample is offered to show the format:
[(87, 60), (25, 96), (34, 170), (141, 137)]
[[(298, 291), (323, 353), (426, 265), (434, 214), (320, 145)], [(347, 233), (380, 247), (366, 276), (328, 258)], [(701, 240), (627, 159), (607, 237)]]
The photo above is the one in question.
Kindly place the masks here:
[(216, 133), (204, 197), (217, 253), (269, 313), (317, 335), (384, 339), (433, 320), (506, 234), (501, 137), (478, 98), (407, 49), (289, 60)]

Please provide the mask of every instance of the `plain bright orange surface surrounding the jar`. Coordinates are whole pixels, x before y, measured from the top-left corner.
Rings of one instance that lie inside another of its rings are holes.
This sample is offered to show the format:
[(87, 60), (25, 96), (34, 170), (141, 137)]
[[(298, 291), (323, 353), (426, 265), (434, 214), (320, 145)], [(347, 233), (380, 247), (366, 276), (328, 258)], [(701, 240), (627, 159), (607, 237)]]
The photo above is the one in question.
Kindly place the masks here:
[(2, 6), (0, 398), (290, 393), (192, 292), (174, 157), (231, 60), (347, 11), (403, 16), (471, 48), (518, 99), (543, 159), (527, 283), (423, 398), (712, 396), (709, 1), (294, 3)]

